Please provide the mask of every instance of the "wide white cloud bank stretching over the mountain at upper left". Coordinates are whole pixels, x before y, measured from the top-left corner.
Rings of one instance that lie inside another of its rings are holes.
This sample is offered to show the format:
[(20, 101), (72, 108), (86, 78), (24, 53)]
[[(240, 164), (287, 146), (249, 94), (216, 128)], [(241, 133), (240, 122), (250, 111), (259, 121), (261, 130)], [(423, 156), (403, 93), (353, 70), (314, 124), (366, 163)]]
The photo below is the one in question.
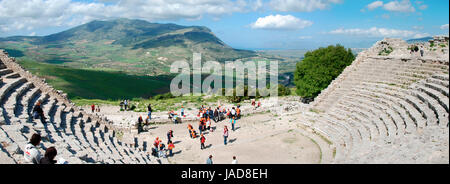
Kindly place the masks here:
[(249, 6), (244, 0), (0, 0), (0, 30), (75, 26), (118, 17), (148, 21), (196, 20), (204, 16), (214, 19), (245, 12)]

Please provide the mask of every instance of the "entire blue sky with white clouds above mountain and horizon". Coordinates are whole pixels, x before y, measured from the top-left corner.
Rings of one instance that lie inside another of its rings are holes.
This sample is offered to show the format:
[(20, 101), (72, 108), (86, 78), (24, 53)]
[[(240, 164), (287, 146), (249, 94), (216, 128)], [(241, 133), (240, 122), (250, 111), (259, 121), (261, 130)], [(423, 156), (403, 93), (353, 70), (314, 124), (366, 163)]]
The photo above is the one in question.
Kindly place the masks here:
[(448, 35), (448, 0), (0, 0), (0, 36), (48, 35), (117, 17), (209, 27), (243, 49), (370, 47)]

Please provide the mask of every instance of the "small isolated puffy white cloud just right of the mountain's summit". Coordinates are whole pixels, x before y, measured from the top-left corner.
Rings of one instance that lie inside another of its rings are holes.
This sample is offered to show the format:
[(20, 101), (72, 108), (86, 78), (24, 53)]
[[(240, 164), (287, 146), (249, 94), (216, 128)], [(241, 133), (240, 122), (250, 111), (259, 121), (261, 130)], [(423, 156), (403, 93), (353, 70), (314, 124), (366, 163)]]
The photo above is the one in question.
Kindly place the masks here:
[(292, 15), (269, 15), (260, 17), (250, 26), (253, 29), (298, 30), (309, 27), (313, 22), (302, 20)]

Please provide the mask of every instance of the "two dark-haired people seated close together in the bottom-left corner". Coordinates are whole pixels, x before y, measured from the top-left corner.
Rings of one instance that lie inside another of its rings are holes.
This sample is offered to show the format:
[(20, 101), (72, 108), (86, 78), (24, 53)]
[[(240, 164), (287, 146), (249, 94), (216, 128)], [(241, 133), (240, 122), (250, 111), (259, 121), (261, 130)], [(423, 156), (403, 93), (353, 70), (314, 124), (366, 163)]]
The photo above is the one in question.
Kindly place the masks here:
[(38, 146), (41, 143), (41, 135), (33, 134), (31, 136), (30, 142), (25, 146), (24, 158), (25, 161), (32, 164), (64, 164), (67, 163), (64, 160), (60, 162), (55, 160), (58, 152), (55, 147), (49, 147), (45, 150), (44, 157), (42, 157), (41, 152), (38, 150)]

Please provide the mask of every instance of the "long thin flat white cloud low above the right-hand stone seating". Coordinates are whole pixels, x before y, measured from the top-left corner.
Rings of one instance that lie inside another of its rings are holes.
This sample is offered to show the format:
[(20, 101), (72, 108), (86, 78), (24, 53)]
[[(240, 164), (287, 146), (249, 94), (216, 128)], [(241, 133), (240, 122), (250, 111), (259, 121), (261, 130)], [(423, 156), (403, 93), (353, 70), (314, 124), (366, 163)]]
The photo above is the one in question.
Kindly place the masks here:
[(338, 35), (351, 35), (351, 36), (367, 36), (367, 37), (400, 37), (409, 38), (413, 37), (419, 33), (409, 30), (398, 30), (398, 29), (388, 29), (388, 28), (377, 28), (372, 27), (369, 29), (336, 29), (329, 32), (330, 34)]

